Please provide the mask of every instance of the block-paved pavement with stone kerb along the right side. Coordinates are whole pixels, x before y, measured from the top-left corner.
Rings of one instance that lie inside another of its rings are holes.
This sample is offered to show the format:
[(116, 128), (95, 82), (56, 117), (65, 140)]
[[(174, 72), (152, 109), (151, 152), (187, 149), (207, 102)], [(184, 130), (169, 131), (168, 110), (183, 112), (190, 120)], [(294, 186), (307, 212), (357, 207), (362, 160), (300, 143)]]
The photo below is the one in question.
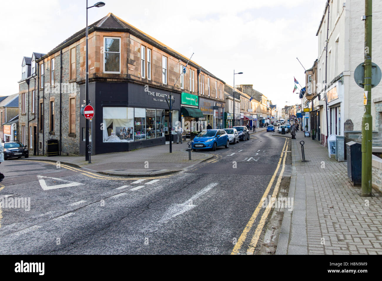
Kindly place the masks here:
[[(304, 140), (305, 159), (301, 162)], [(297, 132), (292, 142), (292, 176), (276, 254), (382, 254), (382, 196), (361, 197), (347, 176), (346, 162), (329, 158), (318, 141)]]

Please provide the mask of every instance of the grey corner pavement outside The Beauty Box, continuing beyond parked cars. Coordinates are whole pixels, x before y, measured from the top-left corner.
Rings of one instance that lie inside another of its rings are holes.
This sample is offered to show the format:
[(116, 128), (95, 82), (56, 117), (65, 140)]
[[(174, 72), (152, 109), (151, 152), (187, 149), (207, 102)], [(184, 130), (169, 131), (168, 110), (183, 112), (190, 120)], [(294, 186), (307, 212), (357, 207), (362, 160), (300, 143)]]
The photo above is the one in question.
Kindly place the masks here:
[[(251, 135), (264, 130), (266, 128), (257, 128), (256, 132), (251, 131)], [(216, 157), (214, 154), (191, 151), (191, 160), (189, 160), (188, 141), (189, 139), (179, 144), (173, 142), (172, 153), (169, 152), (169, 142), (167, 141), (165, 145), (133, 151), (92, 155), (90, 164), (85, 161), (84, 156), (29, 156), (28, 159), (59, 161), (60, 164), (120, 177), (155, 177), (180, 172)]]

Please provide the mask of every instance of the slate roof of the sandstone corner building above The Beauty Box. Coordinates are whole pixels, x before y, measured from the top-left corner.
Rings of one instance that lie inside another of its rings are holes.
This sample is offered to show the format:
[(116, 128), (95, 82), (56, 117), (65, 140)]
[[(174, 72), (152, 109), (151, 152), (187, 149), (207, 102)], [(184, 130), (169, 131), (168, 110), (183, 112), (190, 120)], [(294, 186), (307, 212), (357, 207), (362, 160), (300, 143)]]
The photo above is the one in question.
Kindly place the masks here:
[[(157, 45), (159, 49), (162, 49), (163, 51), (167, 52), (170, 55), (173, 55), (174, 57), (180, 58), (184, 62), (188, 61), (188, 57), (185, 57), (184, 55), (181, 55), (180, 53), (176, 52), (175, 50), (171, 49), (167, 45), (163, 44), (162, 42), (158, 41), (154, 37), (149, 36), (148, 34), (144, 33), (143, 31), (139, 30), (138, 28), (132, 26), (131, 24), (127, 23), (123, 19), (118, 18), (117, 16), (113, 15), (112, 13), (108, 13), (107, 16), (104, 16), (104, 18), (96, 21), (95, 23), (92, 23), (88, 25), (89, 33), (92, 33), (93, 31), (121, 31), (121, 32), (129, 32), (132, 33), (134, 36), (140, 37), (142, 40), (148, 42), (149, 44)], [(81, 29), (80, 31), (74, 33), (72, 36), (68, 37), (65, 41), (58, 44), (53, 50), (48, 52), (48, 54), (43, 55), (49, 56), (57, 52), (59, 49), (66, 47), (67, 45), (72, 44), (73, 42), (78, 41), (79, 39), (85, 37), (85, 31), (86, 28)], [(212, 73), (207, 71), (206, 69), (202, 68), (200, 65), (195, 63), (194, 61), (190, 60), (189, 65), (192, 65), (193, 67), (202, 70), (204, 73), (220, 80), (221, 82), (225, 83), (220, 78), (214, 76)]]

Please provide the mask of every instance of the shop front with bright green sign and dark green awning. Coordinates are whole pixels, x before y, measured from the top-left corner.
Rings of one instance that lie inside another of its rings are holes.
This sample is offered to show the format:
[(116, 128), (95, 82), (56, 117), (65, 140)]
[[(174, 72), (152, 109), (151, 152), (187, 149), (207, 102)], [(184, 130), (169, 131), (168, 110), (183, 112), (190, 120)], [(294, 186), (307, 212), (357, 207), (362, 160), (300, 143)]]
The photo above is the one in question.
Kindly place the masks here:
[(199, 107), (199, 97), (194, 94), (181, 94), (181, 121), (185, 132), (200, 131), (199, 119), (203, 119), (203, 113)]

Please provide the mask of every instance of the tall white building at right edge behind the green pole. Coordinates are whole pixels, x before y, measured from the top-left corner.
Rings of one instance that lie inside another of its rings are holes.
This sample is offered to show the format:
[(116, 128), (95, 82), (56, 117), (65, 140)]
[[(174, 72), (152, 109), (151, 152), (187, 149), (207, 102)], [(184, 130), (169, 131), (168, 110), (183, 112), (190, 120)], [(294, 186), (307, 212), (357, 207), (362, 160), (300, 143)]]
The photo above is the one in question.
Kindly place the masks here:
[[(382, 17), (379, 16), (382, 1), (372, 4), (372, 61), (382, 67)], [(328, 0), (316, 34), (317, 93), (321, 100), (327, 97), (329, 135), (361, 131), (363, 89), (354, 81), (354, 70), (364, 62), (364, 21), (361, 20), (364, 14), (364, 0)], [(371, 112), (373, 130), (381, 136), (382, 84), (372, 89)]]

